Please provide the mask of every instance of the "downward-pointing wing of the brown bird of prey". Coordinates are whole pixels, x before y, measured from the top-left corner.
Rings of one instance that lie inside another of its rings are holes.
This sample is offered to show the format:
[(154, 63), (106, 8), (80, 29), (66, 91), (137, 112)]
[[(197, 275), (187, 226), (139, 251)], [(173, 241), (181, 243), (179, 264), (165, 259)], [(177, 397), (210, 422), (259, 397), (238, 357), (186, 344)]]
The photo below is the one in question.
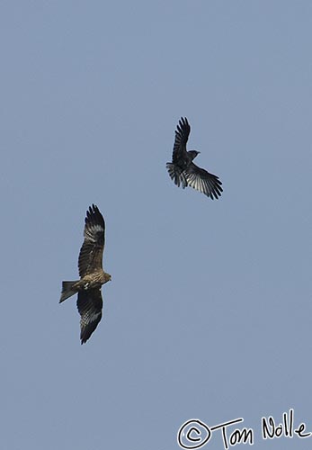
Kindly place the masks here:
[(84, 344), (102, 319), (103, 300), (101, 289), (78, 293), (77, 308), (81, 316), (80, 339)]

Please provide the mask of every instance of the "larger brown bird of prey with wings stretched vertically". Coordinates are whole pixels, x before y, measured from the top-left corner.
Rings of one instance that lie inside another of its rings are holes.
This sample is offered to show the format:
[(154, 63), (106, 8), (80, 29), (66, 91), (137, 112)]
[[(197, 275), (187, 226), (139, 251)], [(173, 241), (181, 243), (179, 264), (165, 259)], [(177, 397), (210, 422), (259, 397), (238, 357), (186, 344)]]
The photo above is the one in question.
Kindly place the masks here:
[(84, 344), (102, 319), (102, 284), (111, 280), (103, 271), (103, 250), (105, 245), (105, 222), (94, 204), (86, 211), (84, 243), (80, 248), (78, 268), (80, 280), (63, 281), (59, 302), (78, 294), (77, 308), (81, 316), (80, 339)]

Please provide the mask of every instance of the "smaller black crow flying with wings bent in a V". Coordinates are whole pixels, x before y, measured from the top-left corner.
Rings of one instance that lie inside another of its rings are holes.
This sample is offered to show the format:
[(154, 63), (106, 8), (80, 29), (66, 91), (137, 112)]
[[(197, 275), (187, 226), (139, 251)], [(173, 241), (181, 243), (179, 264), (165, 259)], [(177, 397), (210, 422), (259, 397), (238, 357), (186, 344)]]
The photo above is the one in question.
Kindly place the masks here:
[(205, 193), (212, 200), (218, 199), (223, 189), (218, 176), (209, 174), (207, 170), (196, 166), (192, 160), (200, 151), (187, 150), (186, 142), (189, 138), (191, 127), (186, 117), (182, 117), (175, 130), (173, 162), (167, 163), (169, 175), (177, 186), (191, 186), (201, 193)]

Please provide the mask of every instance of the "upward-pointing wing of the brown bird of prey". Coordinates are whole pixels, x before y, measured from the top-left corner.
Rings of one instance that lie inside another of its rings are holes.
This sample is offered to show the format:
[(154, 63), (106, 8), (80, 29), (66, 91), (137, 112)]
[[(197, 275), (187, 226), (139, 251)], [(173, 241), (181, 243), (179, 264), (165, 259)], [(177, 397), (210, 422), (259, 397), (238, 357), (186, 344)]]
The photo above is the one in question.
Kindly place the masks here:
[(103, 268), (105, 222), (103, 215), (94, 204), (86, 211), (84, 236), (85, 240), (80, 248), (78, 259), (80, 278)]

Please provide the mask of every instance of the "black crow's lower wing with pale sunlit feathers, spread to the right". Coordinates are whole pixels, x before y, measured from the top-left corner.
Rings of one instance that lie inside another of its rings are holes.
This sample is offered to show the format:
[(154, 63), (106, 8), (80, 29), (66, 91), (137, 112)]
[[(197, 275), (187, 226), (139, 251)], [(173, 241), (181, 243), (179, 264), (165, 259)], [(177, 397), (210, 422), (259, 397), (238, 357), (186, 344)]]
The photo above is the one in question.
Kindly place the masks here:
[(223, 189), (217, 175), (212, 175), (207, 170), (191, 163), (187, 169), (183, 171), (187, 184), (201, 193), (205, 193), (212, 200), (218, 199)]

